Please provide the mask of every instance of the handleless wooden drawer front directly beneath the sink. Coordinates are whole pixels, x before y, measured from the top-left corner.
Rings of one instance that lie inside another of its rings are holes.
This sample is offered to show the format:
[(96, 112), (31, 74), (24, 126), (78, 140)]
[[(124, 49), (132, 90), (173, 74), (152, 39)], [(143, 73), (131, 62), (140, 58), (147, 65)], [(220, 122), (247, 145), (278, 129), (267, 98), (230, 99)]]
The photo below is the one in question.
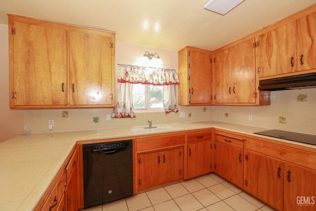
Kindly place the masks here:
[(136, 151), (163, 148), (185, 144), (185, 135), (161, 136), (155, 138), (136, 139)]

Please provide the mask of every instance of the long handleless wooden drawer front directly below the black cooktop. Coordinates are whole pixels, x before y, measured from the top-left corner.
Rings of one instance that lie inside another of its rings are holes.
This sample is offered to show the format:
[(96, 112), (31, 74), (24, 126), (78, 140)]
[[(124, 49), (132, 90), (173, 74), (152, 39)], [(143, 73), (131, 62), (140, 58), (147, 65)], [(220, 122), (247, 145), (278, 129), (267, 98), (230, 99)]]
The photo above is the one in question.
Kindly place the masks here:
[(255, 139), (247, 139), (247, 149), (316, 170), (316, 154), (313, 153), (270, 144)]

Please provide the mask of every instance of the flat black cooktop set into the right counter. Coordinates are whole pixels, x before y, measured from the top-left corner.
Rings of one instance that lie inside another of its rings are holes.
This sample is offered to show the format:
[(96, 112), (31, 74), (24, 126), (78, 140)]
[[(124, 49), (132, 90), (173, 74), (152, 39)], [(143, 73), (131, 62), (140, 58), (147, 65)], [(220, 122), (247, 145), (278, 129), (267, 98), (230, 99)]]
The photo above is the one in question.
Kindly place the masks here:
[(271, 130), (265, 130), (265, 131), (254, 132), (254, 133), (259, 134), (259, 135), (266, 135), (270, 137), (316, 145), (316, 135), (309, 135), (309, 134), (298, 133), (298, 132), (289, 132), (289, 131), (278, 130), (278, 129), (271, 129)]

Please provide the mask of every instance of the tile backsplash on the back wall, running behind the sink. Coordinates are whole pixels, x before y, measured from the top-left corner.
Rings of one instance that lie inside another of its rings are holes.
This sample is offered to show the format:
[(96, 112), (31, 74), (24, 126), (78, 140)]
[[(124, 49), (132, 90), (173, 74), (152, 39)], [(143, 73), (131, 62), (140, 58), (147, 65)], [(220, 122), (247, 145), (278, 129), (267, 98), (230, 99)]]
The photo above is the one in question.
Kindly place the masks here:
[[(205, 111), (204, 108), (206, 108)], [(106, 115), (112, 114), (113, 109), (52, 109), (52, 110), (25, 110), (24, 123), (31, 128), (31, 133), (74, 131), (86, 129), (101, 129), (114, 127), (142, 127), (147, 126), (151, 120), (153, 126), (170, 123), (197, 122), (212, 120), (212, 106), (179, 106), (179, 111), (185, 112), (185, 117), (180, 118), (180, 113), (161, 112), (137, 113), (136, 118), (110, 119)], [(191, 117), (189, 118), (189, 113)], [(54, 119), (54, 127), (48, 129), (48, 120)]]

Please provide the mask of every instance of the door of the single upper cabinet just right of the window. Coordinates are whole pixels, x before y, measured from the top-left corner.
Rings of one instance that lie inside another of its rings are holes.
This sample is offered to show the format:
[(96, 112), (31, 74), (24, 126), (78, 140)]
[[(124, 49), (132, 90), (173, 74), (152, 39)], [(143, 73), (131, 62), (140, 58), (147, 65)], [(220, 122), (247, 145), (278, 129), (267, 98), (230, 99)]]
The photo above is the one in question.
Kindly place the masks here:
[(211, 103), (211, 54), (190, 51), (190, 103)]

